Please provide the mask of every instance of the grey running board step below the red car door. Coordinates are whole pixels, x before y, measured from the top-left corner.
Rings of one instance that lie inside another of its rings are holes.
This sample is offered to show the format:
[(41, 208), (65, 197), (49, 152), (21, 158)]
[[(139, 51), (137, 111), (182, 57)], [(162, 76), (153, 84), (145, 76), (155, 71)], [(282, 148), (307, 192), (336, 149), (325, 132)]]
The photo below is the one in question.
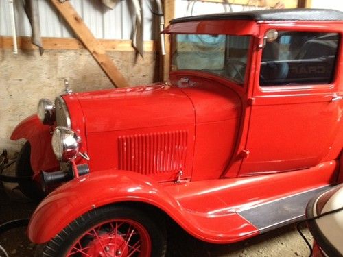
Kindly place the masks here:
[(270, 201), (237, 213), (252, 223), (252, 225), (255, 225), (259, 232), (267, 232), (305, 219), (305, 208), (309, 200), (332, 187), (324, 186), (280, 200)]

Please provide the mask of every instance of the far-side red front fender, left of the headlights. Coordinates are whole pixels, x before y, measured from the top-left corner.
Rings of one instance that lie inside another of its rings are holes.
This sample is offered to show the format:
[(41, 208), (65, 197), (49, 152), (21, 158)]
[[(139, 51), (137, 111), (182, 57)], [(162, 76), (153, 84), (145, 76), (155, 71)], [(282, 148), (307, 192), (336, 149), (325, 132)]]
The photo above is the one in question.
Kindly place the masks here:
[(11, 139), (25, 138), (31, 145), (31, 167), (35, 174), (41, 170), (51, 170), (59, 167), (51, 147), (51, 133), (48, 125), (34, 114), (19, 123), (12, 132)]

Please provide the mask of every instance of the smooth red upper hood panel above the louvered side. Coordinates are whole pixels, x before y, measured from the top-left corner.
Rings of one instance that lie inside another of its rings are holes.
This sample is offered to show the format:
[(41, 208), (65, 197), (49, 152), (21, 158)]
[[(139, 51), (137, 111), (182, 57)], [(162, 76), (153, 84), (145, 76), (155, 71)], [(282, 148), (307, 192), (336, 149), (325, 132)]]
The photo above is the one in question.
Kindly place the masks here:
[(195, 123), (189, 97), (168, 84), (76, 93), (75, 97), (87, 133)]

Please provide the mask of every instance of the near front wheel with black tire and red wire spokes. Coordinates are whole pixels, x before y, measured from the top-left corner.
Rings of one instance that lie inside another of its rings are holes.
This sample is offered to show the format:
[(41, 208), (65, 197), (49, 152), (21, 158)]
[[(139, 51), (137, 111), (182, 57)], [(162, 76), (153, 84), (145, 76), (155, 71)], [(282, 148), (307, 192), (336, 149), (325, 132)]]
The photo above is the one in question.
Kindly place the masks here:
[[(167, 251), (167, 240), (165, 230), (161, 230), (161, 228), (161, 224), (155, 223), (137, 208), (130, 206), (103, 206), (86, 212), (78, 219), (75, 219), (75, 221), (69, 223), (66, 228), (52, 238), (51, 241), (45, 243), (43, 247), (38, 246), (36, 254), (50, 257), (74, 257), (80, 256), (80, 254), (71, 254), (71, 251), (75, 252), (78, 249), (86, 248), (84, 250), (87, 251), (86, 254), (100, 256), (98, 255), (99, 252), (94, 254), (91, 250), (96, 246), (98, 250), (99, 245), (101, 245), (102, 249), (100, 250), (110, 251), (108, 252), (110, 256), (163, 257)], [(132, 229), (132, 232), (130, 232), (130, 229)], [(128, 234), (134, 234), (134, 236), (128, 238)], [(146, 235), (149, 238), (147, 242), (145, 242)], [(98, 238), (101, 238), (101, 243), (99, 243), (100, 240)], [(125, 243), (120, 243), (120, 247), (118, 247), (119, 243), (117, 243), (117, 247), (114, 247), (115, 243), (113, 242), (120, 242), (120, 240)], [(137, 245), (137, 242), (138, 246), (136, 249), (139, 249), (141, 252), (130, 252), (134, 249), (131, 246)], [(150, 246), (145, 247), (145, 243), (148, 243)], [(151, 249), (151, 253), (143, 254), (147, 248)], [(119, 251), (121, 254), (118, 254)]]

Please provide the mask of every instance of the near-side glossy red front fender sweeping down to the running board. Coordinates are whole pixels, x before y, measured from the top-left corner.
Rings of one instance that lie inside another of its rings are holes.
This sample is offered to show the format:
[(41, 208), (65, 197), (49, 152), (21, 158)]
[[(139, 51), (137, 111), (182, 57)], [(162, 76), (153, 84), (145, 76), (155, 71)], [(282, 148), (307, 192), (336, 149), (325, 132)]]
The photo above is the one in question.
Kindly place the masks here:
[(220, 219), (213, 224), (215, 219), (187, 210), (177, 199), (163, 184), (139, 173), (93, 172), (67, 182), (48, 195), (32, 215), (28, 236), (34, 243), (45, 243), (89, 210), (123, 201), (155, 206), (189, 234), (211, 243), (230, 243), (259, 234), (257, 228), (235, 212), (225, 215), (225, 221)]

